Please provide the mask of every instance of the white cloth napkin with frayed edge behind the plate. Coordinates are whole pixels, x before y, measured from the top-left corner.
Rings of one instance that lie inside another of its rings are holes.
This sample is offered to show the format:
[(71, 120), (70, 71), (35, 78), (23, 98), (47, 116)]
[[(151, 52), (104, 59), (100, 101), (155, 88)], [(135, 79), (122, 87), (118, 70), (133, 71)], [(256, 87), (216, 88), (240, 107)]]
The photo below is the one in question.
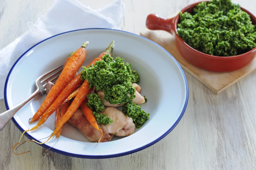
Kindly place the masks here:
[[(29, 30), (0, 50), (0, 99), (4, 98), (4, 84), (16, 60), (38, 42), (66, 31), (84, 28), (120, 29), (124, 17), (124, 4), (116, 0), (92, 10), (78, 0), (55, 0), (45, 15), (39, 15)], [(17, 28), (18, 29), (18, 28)]]

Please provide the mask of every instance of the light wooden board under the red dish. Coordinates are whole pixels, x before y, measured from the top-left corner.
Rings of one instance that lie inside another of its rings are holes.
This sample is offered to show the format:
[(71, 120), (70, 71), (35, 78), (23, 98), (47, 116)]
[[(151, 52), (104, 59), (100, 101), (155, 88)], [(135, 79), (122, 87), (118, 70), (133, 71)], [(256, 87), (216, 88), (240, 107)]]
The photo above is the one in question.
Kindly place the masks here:
[(146, 29), (145, 31), (141, 32), (140, 35), (156, 42), (165, 48), (179, 62), (185, 71), (198, 79), (202, 84), (204, 84), (216, 94), (223, 92), (228, 87), (232, 86), (256, 70), (256, 58), (246, 67), (232, 72), (219, 73), (203, 70), (188, 63), (182, 57), (175, 46), (174, 37), (168, 32), (161, 30), (152, 31)]

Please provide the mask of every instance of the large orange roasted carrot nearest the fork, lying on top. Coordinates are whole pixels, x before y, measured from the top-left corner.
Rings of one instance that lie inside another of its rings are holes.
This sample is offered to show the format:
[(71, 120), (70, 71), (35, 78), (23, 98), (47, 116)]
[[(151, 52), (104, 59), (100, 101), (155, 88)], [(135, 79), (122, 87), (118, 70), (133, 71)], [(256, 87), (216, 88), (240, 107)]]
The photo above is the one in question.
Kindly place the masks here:
[(53, 104), (58, 95), (62, 90), (69, 84), (69, 82), (74, 78), (76, 72), (83, 64), (87, 50), (85, 49), (88, 45), (88, 41), (84, 42), (82, 46), (74, 52), (72, 57), (69, 59), (67, 65), (63, 68), (59, 78), (57, 79), (55, 85), (50, 90), (49, 94), (44, 99), (38, 111), (35, 113), (30, 123), (38, 120), (44, 112)]

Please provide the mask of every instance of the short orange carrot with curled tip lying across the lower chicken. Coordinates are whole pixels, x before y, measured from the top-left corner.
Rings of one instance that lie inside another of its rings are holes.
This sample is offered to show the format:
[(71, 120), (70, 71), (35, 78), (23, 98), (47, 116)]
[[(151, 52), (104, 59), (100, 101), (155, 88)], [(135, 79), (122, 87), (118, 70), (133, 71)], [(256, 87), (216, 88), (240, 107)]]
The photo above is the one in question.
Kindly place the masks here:
[[(92, 113), (92, 109), (90, 109), (88, 106), (87, 106), (87, 103), (88, 103), (88, 98), (86, 98), (83, 103), (80, 105), (80, 108), (82, 110), (82, 112), (84, 113), (86, 119), (90, 122), (90, 124), (97, 130), (100, 130), (101, 131), (101, 138), (103, 136), (103, 132), (102, 130), (99, 128), (98, 126), (98, 123)], [(101, 141), (101, 138), (98, 142)]]

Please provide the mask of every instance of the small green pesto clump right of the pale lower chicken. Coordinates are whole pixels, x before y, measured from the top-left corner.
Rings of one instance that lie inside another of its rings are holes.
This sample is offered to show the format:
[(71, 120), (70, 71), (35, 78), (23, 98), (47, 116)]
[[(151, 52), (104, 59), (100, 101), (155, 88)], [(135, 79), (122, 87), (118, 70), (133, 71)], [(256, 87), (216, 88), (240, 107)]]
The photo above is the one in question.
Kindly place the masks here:
[(140, 128), (143, 124), (145, 124), (150, 115), (150, 113), (146, 113), (144, 110), (141, 110), (140, 105), (136, 105), (132, 101), (126, 103), (121, 110), (124, 112), (124, 114), (133, 119), (136, 128)]

